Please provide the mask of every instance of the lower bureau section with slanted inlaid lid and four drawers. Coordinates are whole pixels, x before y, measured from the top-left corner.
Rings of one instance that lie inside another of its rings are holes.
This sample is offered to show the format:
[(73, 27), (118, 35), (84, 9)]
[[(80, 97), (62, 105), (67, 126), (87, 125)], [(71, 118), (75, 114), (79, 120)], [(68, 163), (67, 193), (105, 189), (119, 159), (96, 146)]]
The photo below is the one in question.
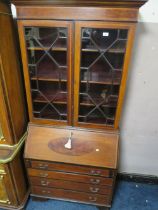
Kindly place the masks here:
[[(110, 206), (117, 172), (117, 132), (105, 134), (34, 125), (28, 132), (25, 162), (33, 196)], [(67, 151), (64, 144), (70, 132), (73, 146)], [(89, 139), (90, 150), (85, 139)], [(52, 142), (56, 145), (53, 149)], [(79, 145), (85, 153), (77, 153)]]

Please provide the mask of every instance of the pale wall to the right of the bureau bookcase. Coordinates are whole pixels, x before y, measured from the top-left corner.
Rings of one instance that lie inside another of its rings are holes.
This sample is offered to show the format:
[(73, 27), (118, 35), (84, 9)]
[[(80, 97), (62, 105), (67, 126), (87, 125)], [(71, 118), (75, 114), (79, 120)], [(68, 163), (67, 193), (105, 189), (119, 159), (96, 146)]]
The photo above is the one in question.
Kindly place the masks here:
[(120, 172), (158, 176), (157, 0), (141, 8), (139, 21), (120, 125)]

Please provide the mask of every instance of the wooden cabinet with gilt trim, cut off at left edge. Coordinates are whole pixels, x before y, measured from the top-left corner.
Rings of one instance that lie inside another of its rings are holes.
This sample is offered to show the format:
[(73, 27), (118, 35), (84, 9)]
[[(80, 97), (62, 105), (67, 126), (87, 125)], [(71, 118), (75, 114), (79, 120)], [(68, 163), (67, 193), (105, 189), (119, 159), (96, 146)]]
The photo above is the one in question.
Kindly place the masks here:
[(27, 120), (15, 27), (9, 1), (0, 0), (0, 209), (22, 209), (28, 198), (23, 169)]

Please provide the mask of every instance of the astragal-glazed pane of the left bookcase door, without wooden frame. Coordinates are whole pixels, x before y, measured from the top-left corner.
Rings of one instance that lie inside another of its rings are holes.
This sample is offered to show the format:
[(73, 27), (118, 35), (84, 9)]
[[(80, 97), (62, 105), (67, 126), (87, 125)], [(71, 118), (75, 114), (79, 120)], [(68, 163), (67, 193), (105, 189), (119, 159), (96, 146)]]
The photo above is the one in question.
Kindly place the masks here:
[(67, 28), (25, 27), (35, 118), (67, 120)]

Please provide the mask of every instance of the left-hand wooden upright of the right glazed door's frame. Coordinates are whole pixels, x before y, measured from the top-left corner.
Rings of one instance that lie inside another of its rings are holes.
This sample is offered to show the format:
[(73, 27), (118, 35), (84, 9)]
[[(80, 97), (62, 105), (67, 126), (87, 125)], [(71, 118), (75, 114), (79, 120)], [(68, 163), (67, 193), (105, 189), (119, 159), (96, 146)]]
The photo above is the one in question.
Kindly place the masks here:
[(75, 23), (75, 65), (74, 65), (74, 126), (78, 125), (79, 113), (79, 81), (81, 60), (81, 25)]

